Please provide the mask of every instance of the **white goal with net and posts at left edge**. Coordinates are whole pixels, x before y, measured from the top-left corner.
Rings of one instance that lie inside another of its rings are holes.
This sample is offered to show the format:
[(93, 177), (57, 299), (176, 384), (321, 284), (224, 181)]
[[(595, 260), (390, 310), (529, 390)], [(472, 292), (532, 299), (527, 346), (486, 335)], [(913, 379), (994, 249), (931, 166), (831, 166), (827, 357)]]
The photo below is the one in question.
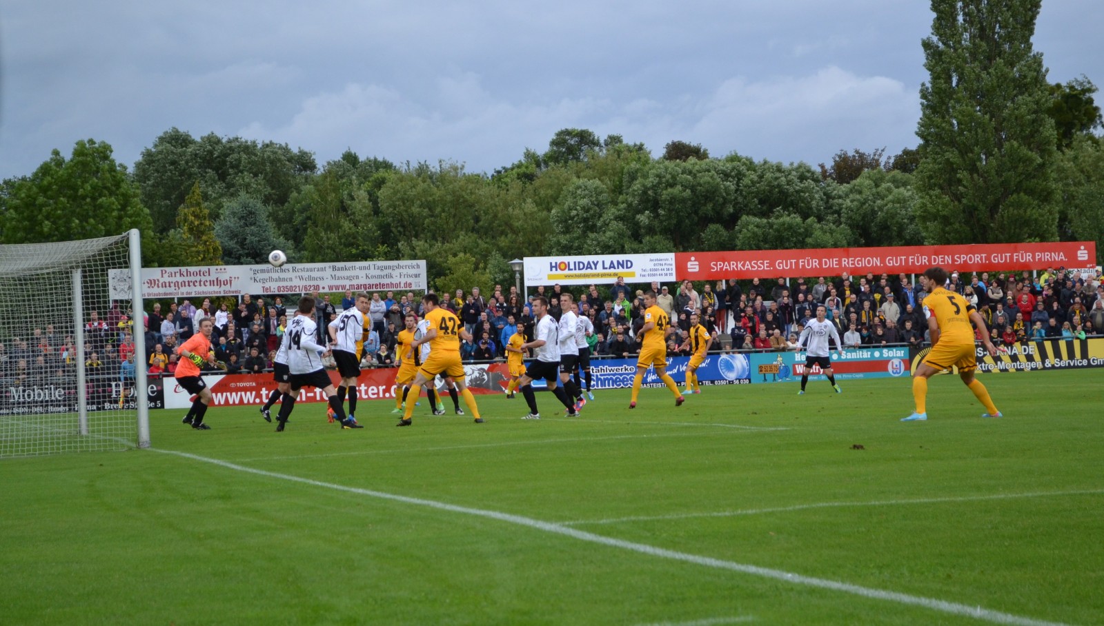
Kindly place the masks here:
[(110, 296), (139, 259), (137, 230), (0, 246), (0, 457), (149, 445), (141, 300)]

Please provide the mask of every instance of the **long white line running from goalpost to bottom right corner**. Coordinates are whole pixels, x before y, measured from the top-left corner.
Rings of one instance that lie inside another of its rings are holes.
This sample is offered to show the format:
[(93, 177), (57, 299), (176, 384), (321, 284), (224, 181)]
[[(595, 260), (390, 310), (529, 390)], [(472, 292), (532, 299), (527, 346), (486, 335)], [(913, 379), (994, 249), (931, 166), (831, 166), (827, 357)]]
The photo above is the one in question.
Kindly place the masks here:
[(755, 576), (761, 576), (765, 579), (773, 579), (778, 581), (784, 581), (797, 585), (806, 585), (818, 589), (826, 589), (830, 591), (838, 591), (842, 593), (848, 593), (852, 595), (858, 595), (861, 597), (868, 597), (872, 600), (883, 600), (887, 602), (895, 602), (898, 604), (905, 604), (910, 606), (920, 606), (923, 608), (928, 608), (932, 611), (938, 611), (942, 613), (948, 613), (952, 615), (964, 615), (967, 617), (975, 617), (977, 619), (985, 619), (992, 622), (995, 624), (1009, 624), (1012, 626), (1065, 626), (1057, 622), (1045, 622), (1041, 619), (1033, 619), (1031, 617), (1022, 617), (1020, 615), (1013, 615), (1011, 613), (1002, 613), (1000, 611), (992, 611), (989, 608), (981, 608), (980, 606), (967, 606), (965, 604), (959, 604), (956, 602), (947, 602), (943, 600), (935, 600), (931, 597), (923, 597), (919, 595), (911, 595), (906, 593), (887, 591), (874, 587), (866, 587), (861, 585), (843, 583), (839, 581), (832, 581), (828, 579), (818, 579), (815, 576), (806, 576), (802, 574), (795, 574), (792, 572), (786, 572), (783, 570), (773, 570), (769, 568), (761, 568), (757, 565), (749, 565), (745, 563), (736, 563), (734, 561), (724, 561), (722, 559), (713, 559), (711, 557), (701, 557), (698, 554), (690, 554), (688, 552), (678, 552), (676, 550), (667, 550), (666, 548), (657, 548), (655, 546), (648, 546), (646, 543), (637, 543), (635, 541), (626, 541), (624, 539), (615, 539), (613, 537), (604, 537), (602, 535), (595, 535), (593, 532), (586, 532), (584, 530), (578, 530), (575, 528), (570, 528), (563, 526), (562, 524), (554, 524), (550, 521), (541, 521), (539, 519), (533, 519), (529, 517), (523, 517), (520, 515), (511, 515), (507, 512), (499, 512), (493, 510), (477, 509), (471, 507), (464, 507), (459, 505), (450, 505), (447, 503), (440, 503), (436, 500), (428, 500), (424, 498), (413, 498), (410, 496), (400, 496), (396, 494), (388, 494), (384, 492), (375, 492), (372, 489), (362, 489), (360, 487), (348, 487), (346, 485), (338, 485), (335, 483), (323, 483), (321, 481), (315, 481), (312, 478), (304, 478), (301, 476), (294, 476), (290, 474), (278, 474), (276, 472), (266, 472), (264, 470), (256, 470), (254, 467), (246, 467), (245, 465), (237, 465), (235, 463), (230, 463), (227, 461), (220, 461), (217, 458), (208, 458), (205, 456), (199, 456), (197, 454), (189, 454), (187, 452), (178, 452), (174, 450), (158, 450), (149, 449), (152, 452), (159, 452), (161, 454), (172, 454), (176, 456), (181, 456), (184, 458), (191, 458), (193, 461), (200, 461), (202, 463), (210, 463), (212, 465), (217, 465), (220, 467), (226, 467), (227, 470), (234, 470), (236, 472), (243, 472), (246, 474), (255, 474), (257, 476), (265, 476), (268, 478), (277, 478), (280, 481), (288, 481), (293, 483), (300, 483), (304, 485), (310, 485), (312, 487), (321, 487), (325, 489), (333, 489), (336, 492), (346, 492), (350, 494), (358, 494), (362, 496), (369, 496), (372, 498), (379, 498), (384, 500), (397, 501), (408, 505), (415, 505), (421, 507), (433, 508), (437, 510), (445, 510), (449, 512), (458, 512), (464, 515), (471, 515), (476, 517), (482, 517), (488, 519), (493, 519), (498, 521), (505, 521), (508, 524), (513, 524), (517, 526), (523, 526), (527, 528), (533, 528), (537, 530), (542, 530), (544, 532), (551, 532), (554, 535), (562, 535), (564, 537), (571, 537), (572, 539), (577, 539), (580, 541), (586, 541), (588, 543), (597, 543), (599, 546), (607, 546), (611, 548), (620, 548), (622, 550), (628, 550), (630, 552), (637, 552), (640, 554), (647, 554), (649, 557), (658, 557), (660, 559), (670, 559), (672, 561), (679, 561), (683, 563), (692, 563), (696, 565), (702, 565), (705, 568), (715, 568), (720, 570), (729, 570), (733, 572), (741, 572), (745, 574), (752, 574)]

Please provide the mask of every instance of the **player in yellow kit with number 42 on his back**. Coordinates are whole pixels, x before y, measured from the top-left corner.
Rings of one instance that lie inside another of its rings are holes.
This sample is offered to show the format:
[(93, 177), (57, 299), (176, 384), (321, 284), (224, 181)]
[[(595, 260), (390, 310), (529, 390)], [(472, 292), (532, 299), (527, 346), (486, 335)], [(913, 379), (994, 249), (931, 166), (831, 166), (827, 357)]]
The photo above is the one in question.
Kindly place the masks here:
[[(464, 396), (464, 403), (468, 406), (475, 422), (482, 423), (479, 417), (479, 407), (476, 398), (468, 389), (464, 375), (464, 364), (460, 361), (460, 339), (469, 339), (471, 335), (464, 330), (464, 324), (456, 315), (442, 306), (438, 306), (436, 293), (426, 293), (422, 296), (422, 305), (425, 309), (425, 320), (429, 323), (426, 333), (417, 339), (411, 342), (411, 348), (420, 349), (423, 344), (429, 344), (429, 356), (422, 361), (414, 381), (411, 382), (410, 395), (407, 397), (417, 398), (422, 392), (422, 386), (436, 379), (438, 375), (452, 377), (457, 389)], [(411, 425), (411, 414), (414, 412), (414, 402), (406, 402), (406, 410), (403, 419), (395, 425)]]

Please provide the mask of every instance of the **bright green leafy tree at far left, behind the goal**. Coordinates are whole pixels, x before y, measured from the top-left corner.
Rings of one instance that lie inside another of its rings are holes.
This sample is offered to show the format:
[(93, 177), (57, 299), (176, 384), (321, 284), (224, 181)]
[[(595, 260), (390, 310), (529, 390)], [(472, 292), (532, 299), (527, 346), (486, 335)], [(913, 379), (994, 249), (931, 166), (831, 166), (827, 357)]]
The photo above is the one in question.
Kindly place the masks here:
[[(68, 241), (152, 231), (149, 212), (112, 147), (77, 141), (66, 160), (53, 150), (30, 176), (3, 183), (0, 235), (6, 244)], [(147, 252), (151, 252), (146, 246)]]

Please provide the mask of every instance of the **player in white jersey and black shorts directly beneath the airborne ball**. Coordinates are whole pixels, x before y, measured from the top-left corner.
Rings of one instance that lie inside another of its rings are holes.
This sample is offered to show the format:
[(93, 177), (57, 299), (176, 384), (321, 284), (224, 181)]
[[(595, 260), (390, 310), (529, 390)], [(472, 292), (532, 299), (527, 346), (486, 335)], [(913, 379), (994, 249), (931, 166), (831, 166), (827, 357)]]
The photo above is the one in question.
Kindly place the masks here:
[(279, 414), (276, 415), (276, 432), (284, 430), (284, 424), (291, 415), (291, 408), (295, 406), (299, 389), (314, 387), (322, 389), (329, 398), (330, 408), (340, 420), (341, 428), (359, 429), (363, 428), (357, 422), (349, 420), (344, 414), (344, 407), (338, 400), (333, 384), (330, 382), (330, 375), (326, 374), (322, 367), (322, 355), (328, 350), (325, 346), (315, 343), (318, 325), (314, 321), (315, 299), (305, 295), (299, 300), (299, 309), (295, 317), (288, 322), (287, 331), (284, 333), (284, 341), (287, 343), (287, 367), (290, 373), (288, 384), (290, 393), (284, 396)]

